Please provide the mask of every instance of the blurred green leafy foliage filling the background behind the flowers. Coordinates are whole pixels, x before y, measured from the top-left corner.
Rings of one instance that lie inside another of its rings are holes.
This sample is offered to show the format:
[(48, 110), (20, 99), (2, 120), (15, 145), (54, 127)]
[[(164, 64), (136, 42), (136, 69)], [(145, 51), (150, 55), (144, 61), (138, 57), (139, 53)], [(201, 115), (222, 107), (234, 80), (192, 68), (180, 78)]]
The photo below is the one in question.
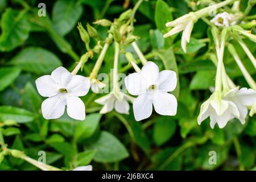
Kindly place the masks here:
[[(180, 47), (180, 34), (163, 39), (169, 29), (164, 24), (195, 9), (189, 0), (150, 0), (139, 7), (135, 19), (135, 35), (148, 60), (160, 69), (179, 73), (175, 90), (178, 99), (175, 117), (155, 113), (136, 122), (133, 111), (121, 115), (112, 111), (101, 115), (93, 101), (100, 97), (91, 91), (82, 100), (86, 105), (84, 122), (67, 115), (47, 121), (42, 117), (42, 98), (35, 88), (35, 79), (50, 74), (64, 65), (72, 70), (85, 53), (78, 22), (84, 26), (94, 20), (113, 21), (123, 11), (133, 8), (137, 0), (58, 0), (44, 1), (47, 16), (38, 16), (36, 0), (1, 0), (0, 35), (0, 129), (9, 148), (24, 151), (38, 159), (46, 151), (46, 162), (62, 169), (92, 164), (94, 170), (229, 170), (256, 169), (256, 118), (246, 124), (234, 119), (224, 129), (210, 129), (209, 120), (197, 124), (200, 105), (210, 96), (216, 67), (212, 60), (214, 45), (210, 28), (199, 20), (193, 29), (187, 53)], [(204, 2), (204, 1), (202, 1)], [(247, 1), (241, 2), (245, 9)], [(197, 8), (203, 7), (201, 3)], [(255, 8), (251, 11), (255, 13)], [(101, 40), (107, 36), (106, 27), (94, 26)], [(255, 34), (255, 32), (253, 32)], [(96, 44), (96, 42), (91, 42)], [(247, 41), (255, 53), (255, 44)], [(247, 70), (255, 78), (241, 47), (234, 43)], [(131, 46), (127, 50), (134, 53)], [(134, 53), (134, 56), (136, 54)], [(100, 73), (113, 67), (114, 47), (110, 46)], [(86, 63), (80, 75), (89, 76), (97, 55)], [(127, 70), (125, 56), (119, 61), (119, 72)], [(249, 87), (232, 56), (226, 52), (228, 75), (242, 87)], [(128, 69), (125, 73), (134, 72)], [(13, 122), (14, 121), (14, 122)], [(217, 164), (210, 165), (209, 151), (217, 152)], [(5, 156), (0, 170), (36, 170), (23, 160)]]

